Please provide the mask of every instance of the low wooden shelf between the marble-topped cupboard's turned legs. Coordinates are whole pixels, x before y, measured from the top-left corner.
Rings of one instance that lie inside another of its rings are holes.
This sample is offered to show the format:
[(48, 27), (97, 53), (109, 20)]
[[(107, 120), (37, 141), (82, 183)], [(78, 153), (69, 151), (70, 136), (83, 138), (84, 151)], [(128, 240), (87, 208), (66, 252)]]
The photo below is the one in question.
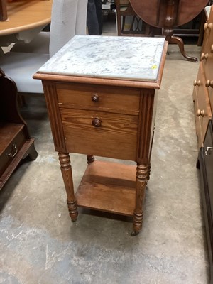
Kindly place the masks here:
[(89, 163), (75, 197), (79, 207), (133, 216), (136, 166), (97, 160)]

